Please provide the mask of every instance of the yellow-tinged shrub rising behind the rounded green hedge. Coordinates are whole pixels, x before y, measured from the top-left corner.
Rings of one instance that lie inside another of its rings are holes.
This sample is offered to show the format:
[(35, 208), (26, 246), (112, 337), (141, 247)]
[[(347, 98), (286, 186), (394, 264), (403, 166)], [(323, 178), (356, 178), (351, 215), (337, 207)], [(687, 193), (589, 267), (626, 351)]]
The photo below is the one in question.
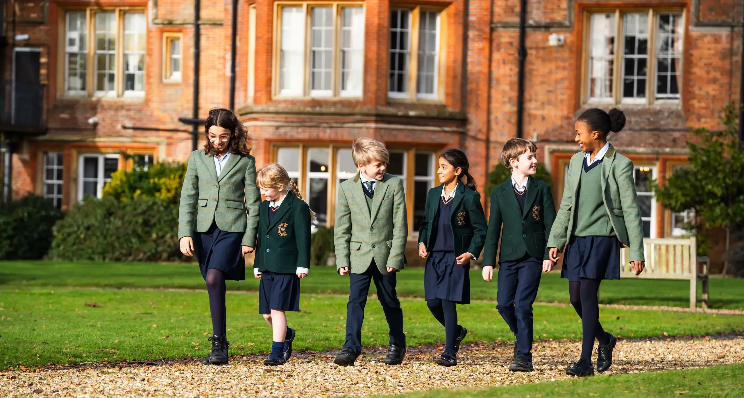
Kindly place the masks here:
[(103, 196), (126, 201), (141, 196), (179, 202), (186, 174), (185, 163), (155, 163), (147, 170), (118, 170), (103, 187)]

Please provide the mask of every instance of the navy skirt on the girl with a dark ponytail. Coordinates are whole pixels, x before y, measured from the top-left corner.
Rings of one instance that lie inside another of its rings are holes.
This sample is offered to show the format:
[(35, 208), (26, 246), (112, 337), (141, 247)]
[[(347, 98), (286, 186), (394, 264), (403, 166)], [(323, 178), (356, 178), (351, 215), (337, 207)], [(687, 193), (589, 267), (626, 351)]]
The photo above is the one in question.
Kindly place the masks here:
[(431, 252), (423, 271), (424, 297), (470, 302), (470, 263), (458, 265), (454, 252)]

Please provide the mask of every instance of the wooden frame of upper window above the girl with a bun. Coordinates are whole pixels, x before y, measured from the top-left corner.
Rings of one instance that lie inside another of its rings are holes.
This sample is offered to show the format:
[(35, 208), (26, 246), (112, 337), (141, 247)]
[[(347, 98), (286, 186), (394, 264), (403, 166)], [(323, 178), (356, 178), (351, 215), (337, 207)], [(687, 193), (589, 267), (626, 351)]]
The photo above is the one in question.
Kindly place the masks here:
[[(612, 13), (615, 12), (615, 47), (613, 53), (615, 59), (612, 63), (612, 100), (589, 100), (589, 48), (590, 48), (590, 34), (591, 34), (591, 14), (593, 13)], [(649, 14), (649, 27), (648, 27), (648, 44), (647, 44), (647, 69), (646, 69), (646, 94), (642, 100), (635, 101), (623, 101), (621, 91), (621, 84), (623, 79), (623, 16), (626, 13), (648, 13)], [(682, 53), (680, 53), (679, 71), (677, 74), (680, 76), (680, 83), (678, 86), (679, 98), (675, 99), (656, 99), (656, 38), (658, 36), (658, 14), (660, 13), (679, 13), (682, 15), (682, 26), (680, 29), (680, 36), (682, 40)], [(684, 77), (684, 45), (687, 41), (685, 30), (687, 25), (687, 10), (682, 7), (619, 7), (619, 8), (589, 8), (583, 13), (583, 26), (586, 28), (583, 30), (582, 37), (582, 54), (581, 54), (581, 84), (580, 84), (580, 99), (583, 105), (623, 105), (623, 106), (650, 106), (655, 104), (672, 104), (679, 105), (682, 103), (683, 85), (682, 77)]]

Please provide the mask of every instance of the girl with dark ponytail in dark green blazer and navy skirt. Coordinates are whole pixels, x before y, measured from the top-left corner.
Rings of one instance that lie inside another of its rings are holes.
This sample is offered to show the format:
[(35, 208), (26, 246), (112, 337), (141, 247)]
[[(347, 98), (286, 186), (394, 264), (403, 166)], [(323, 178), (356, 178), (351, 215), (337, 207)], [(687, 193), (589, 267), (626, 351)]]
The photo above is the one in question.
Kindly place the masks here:
[[(424, 270), (426, 305), (443, 326), (446, 345), (437, 365), (457, 365), (467, 329), (458, 324), (455, 304), (470, 302), (470, 260), (481, 254), (486, 238), (486, 217), (469, 163), (459, 149), (439, 157), (440, 186), (429, 189), (419, 229), (419, 255), (427, 258)], [(461, 181), (462, 180), (462, 181)]]

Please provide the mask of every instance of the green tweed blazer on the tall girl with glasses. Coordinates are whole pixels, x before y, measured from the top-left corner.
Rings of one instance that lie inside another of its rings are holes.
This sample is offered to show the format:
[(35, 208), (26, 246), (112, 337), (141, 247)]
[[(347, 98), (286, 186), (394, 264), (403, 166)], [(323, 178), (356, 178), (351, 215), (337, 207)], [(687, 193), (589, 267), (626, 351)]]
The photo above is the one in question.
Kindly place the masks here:
[(254, 157), (231, 153), (217, 178), (214, 157), (193, 151), (181, 190), (179, 239), (207, 232), (214, 221), (222, 231), (245, 232), (242, 244), (256, 247), (259, 205)]

